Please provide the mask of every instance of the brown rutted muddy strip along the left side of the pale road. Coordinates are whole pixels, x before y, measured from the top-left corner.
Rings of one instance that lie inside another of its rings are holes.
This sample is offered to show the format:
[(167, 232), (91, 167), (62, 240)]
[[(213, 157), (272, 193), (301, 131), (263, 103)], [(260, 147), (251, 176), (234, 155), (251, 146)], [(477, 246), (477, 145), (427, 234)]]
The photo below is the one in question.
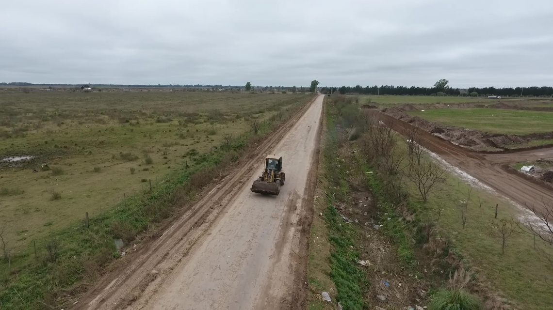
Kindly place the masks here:
[[(221, 214), (240, 194), (237, 188), (248, 183), (249, 178), (263, 161), (270, 149), (301, 121), (307, 111), (317, 104), (319, 97), (302, 108), (292, 119), (253, 150), (237, 166), (237, 171), (225, 177), (217, 186), (203, 193), (203, 198), (191, 206), (177, 219), (163, 235), (143, 246), (133, 259), (119, 271), (102, 279), (98, 285), (79, 302), (79, 309), (122, 309), (142, 308), (155, 296), (159, 287), (168, 280), (174, 280), (173, 271), (182, 264), (191, 251), (207, 237), (206, 232)], [(285, 165), (286, 168), (286, 165)], [(289, 185), (289, 178), (286, 184)], [(249, 191), (249, 188), (248, 188)], [(281, 193), (282, 195), (282, 193)], [(155, 270), (155, 272), (152, 272)], [(144, 296), (147, 295), (147, 296)], [(146, 306), (148, 308), (148, 306)]]

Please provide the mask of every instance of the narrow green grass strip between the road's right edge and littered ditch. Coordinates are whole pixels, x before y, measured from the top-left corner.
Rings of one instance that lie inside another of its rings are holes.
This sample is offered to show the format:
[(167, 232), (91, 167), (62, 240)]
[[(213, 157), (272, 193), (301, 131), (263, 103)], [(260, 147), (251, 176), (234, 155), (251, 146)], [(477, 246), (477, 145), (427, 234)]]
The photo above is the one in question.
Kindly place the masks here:
[[(333, 304), (339, 301), (345, 309), (361, 310), (367, 308), (364, 294), (368, 279), (355, 263), (359, 259), (355, 240), (359, 238), (360, 232), (354, 225), (343, 225), (340, 214), (333, 207), (340, 201), (347, 201), (349, 186), (345, 178), (346, 167), (337, 159), (336, 115), (331, 114), (332, 109), (328, 107), (325, 111), (327, 139), (322, 150), (320, 169), (324, 172), (319, 176), (319, 190), (321, 193), (326, 192), (326, 195), (317, 203), (317, 212), (323, 214), (322, 220), (315, 215), (311, 225), (311, 240), (314, 240), (316, 246), (310, 248), (307, 274), (311, 288), (319, 293), (336, 287), (337, 296)], [(317, 310), (329, 307), (326, 302), (313, 299), (308, 308)]]

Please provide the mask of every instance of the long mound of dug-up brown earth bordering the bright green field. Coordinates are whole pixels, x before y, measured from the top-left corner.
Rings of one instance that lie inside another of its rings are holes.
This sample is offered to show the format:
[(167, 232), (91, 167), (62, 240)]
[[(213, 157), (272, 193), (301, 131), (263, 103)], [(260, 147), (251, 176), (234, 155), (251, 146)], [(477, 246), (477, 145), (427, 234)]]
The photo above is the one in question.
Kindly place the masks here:
[(420, 117), (411, 116), (405, 111), (413, 110), (410, 110), (410, 108), (407, 110), (403, 108), (385, 108), (382, 110), (384, 114), (403, 120), (405, 123), (440, 136), (453, 144), (463, 146), (471, 151), (505, 151), (513, 149), (513, 145), (528, 143), (532, 140), (553, 139), (553, 132), (528, 135), (484, 133), (479, 130), (429, 122)]

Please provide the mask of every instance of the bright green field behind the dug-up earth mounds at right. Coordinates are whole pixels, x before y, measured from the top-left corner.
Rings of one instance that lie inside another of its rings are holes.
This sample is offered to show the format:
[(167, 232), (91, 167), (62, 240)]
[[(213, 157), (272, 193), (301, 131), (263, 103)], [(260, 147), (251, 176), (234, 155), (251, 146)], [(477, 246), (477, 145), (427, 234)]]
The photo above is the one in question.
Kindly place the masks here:
[(532, 134), (553, 131), (553, 113), (503, 109), (429, 109), (408, 112), (431, 122), (498, 134)]

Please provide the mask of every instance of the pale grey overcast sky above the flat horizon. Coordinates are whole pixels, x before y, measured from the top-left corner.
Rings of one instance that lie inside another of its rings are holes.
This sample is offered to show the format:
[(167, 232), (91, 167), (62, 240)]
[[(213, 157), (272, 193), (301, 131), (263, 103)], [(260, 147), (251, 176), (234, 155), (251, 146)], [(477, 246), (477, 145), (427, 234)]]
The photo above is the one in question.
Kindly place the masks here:
[(552, 0), (8, 1), (0, 82), (553, 86)]

